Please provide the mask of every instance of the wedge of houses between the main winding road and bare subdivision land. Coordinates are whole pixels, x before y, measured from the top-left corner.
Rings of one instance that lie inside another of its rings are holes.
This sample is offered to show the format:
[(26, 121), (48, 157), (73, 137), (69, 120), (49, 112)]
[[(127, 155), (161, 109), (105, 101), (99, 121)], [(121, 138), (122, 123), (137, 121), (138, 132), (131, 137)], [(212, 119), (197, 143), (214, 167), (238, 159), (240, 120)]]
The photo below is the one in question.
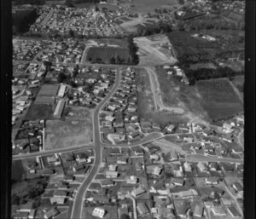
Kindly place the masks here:
[(112, 143), (135, 141), (143, 135), (137, 113), (135, 72), (130, 67), (122, 72), (119, 89), (102, 108), (100, 118), (105, 141)]

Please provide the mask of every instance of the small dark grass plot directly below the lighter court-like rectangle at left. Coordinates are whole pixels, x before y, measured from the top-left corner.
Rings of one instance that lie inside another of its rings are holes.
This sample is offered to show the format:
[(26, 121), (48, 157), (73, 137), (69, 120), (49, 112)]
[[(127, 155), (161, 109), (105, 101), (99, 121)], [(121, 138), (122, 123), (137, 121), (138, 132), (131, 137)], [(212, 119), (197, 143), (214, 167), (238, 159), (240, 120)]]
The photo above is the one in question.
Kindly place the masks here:
[(54, 107), (47, 104), (32, 104), (29, 108), (26, 119), (36, 120), (36, 119), (48, 119), (52, 116), (54, 112)]

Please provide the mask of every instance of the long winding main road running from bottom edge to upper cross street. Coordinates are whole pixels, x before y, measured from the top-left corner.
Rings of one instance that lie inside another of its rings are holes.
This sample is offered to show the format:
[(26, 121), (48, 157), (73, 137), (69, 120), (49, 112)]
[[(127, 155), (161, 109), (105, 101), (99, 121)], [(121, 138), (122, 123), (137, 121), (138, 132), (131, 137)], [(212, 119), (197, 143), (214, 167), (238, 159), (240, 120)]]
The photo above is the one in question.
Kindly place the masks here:
[(120, 72), (119, 68), (117, 68), (116, 77), (115, 77), (115, 84), (113, 89), (108, 93), (108, 95), (104, 98), (103, 101), (96, 107), (96, 110), (93, 115), (93, 124), (94, 124), (94, 144), (95, 144), (95, 162), (90, 171), (90, 174), (84, 179), (84, 182), (79, 187), (78, 192), (76, 193), (74, 202), (73, 202), (73, 209), (71, 213), (72, 219), (79, 219), (82, 216), (83, 211), (83, 199), (86, 193), (87, 188), (90, 186), (90, 182), (96, 176), (96, 173), (99, 170), (100, 164), (102, 162), (102, 145), (101, 145), (101, 134), (100, 134), (100, 124), (99, 124), (99, 112), (105, 103), (111, 98), (114, 92), (119, 88), (120, 82)]

